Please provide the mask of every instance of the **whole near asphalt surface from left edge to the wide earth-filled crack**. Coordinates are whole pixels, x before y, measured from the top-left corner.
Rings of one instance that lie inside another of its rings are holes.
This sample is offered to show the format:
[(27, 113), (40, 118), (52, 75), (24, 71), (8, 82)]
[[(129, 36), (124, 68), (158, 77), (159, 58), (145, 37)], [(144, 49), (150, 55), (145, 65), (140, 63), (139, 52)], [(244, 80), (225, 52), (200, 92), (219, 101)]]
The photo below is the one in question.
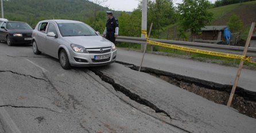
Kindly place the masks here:
[(0, 43), (0, 91), (1, 133), (255, 132), (255, 119), (146, 73), (66, 71), (31, 46)]

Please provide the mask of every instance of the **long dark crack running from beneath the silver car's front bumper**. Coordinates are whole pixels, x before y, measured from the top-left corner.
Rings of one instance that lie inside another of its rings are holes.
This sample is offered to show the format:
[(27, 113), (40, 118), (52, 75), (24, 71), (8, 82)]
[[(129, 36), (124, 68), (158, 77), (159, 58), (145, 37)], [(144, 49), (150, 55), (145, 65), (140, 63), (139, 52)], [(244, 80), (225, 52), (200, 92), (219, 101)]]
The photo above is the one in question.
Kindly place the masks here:
[[(156, 113), (161, 113), (161, 114), (165, 114), (170, 120), (178, 120), (178, 119), (174, 119), (172, 118), (166, 111), (158, 108), (156, 105), (154, 105), (152, 102), (150, 102), (149, 100), (146, 100), (146, 99), (143, 99), (141, 96), (137, 95), (136, 93), (133, 93), (131, 92), (129, 89), (123, 87), (122, 85), (120, 84), (117, 84), (115, 83), (114, 79), (111, 79), (111, 77), (108, 77), (106, 75), (104, 75), (104, 73), (98, 71), (98, 70), (95, 70), (95, 69), (90, 69), (90, 71), (94, 72), (95, 75), (99, 76), (100, 79), (102, 79), (102, 81), (110, 84), (113, 86), (113, 88), (115, 89), (115, 91), (118, 91), (118, 92), (122, 92), (124, 95), (126, 95), (127, 97), (129, 97), (131, 100), (133, 101), (136, 101), (137, 103), (139, 104), (142, 104), (142, 105), (146, 105), (147, 107), (149, 108), (152, 108)], [(125, 101), (127, 103), (127, 101)], [(127, 103), (129, 104), (129, 103)], [(129, 104), (130, 105), (130, 104)], [(148, 114), (149, 115), (149, 114)], [(152, 116), (152, 115), (150, 115)], [(154, 117), (154, 116), (153, 116)], [(156, 118), (156, 117), (154, 117)], [(158, 119), (158, 118), (157, 118)], [(180, 120), (181, 121), (181, 120)], [(170, 126), (173, 126), (173, 127), (176, 127), (176, 128), (179, 128), (180, 130), (182, 131), (185, 131), (185, 132), (189, 132), (190, 131), (187, 131), (185, 130), (184, 128), (181, 128), (179, 126), (176, 126), (172, 123), (169, 123), (169, 122), (166, 122), (167, 124), (169, 124)]]

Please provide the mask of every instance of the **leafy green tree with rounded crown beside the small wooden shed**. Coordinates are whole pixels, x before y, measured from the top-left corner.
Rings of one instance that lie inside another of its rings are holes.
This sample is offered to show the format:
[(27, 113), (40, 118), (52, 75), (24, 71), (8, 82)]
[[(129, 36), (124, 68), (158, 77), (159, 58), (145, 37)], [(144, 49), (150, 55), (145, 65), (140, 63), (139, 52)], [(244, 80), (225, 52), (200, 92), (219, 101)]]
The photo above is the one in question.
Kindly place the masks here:
[(180, 28), (185, 31), (191, 30), (191, 33), (199, 33), (201, 28), (212, 21), (213, 14), (207, 11), (210, 6), (211, 3), (207, 0), (183, 0), (177, 7)]

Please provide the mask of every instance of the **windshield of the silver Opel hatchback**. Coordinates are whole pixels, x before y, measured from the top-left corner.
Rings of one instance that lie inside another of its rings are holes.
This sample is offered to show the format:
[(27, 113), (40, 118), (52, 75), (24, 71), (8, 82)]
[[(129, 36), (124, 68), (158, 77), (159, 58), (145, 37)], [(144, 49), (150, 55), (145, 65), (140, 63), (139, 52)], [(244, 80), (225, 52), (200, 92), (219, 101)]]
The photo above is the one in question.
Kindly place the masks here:
[(58, 24), (63, 37), (68, 36), (97, 36), (95, 31), (83, 23), (61, 23)]

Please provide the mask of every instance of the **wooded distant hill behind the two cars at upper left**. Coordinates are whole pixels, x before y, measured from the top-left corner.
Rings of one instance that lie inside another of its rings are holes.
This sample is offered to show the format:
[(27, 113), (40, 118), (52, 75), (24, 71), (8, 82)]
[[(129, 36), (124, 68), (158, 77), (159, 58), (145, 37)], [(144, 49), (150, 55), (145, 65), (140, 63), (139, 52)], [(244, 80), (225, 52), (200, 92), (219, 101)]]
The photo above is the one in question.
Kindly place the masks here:
[(35, 26), (43, 19), (85, 21), (96, 11), (109, 10), (88, 0), (5, 0), (5, 18)]

